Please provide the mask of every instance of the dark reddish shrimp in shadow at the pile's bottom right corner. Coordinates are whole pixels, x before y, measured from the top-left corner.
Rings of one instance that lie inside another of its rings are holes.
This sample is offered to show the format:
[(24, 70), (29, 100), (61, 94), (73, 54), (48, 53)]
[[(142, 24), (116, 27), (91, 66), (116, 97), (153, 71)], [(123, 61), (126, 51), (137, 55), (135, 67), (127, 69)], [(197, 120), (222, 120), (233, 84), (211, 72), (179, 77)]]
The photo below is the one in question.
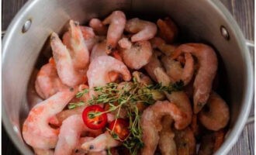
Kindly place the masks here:
[(223, 143), (225, 133), (223, 130), (214, 133), (207, 133), (202, 136), (199, 147), (199, 155), (212, 155)]

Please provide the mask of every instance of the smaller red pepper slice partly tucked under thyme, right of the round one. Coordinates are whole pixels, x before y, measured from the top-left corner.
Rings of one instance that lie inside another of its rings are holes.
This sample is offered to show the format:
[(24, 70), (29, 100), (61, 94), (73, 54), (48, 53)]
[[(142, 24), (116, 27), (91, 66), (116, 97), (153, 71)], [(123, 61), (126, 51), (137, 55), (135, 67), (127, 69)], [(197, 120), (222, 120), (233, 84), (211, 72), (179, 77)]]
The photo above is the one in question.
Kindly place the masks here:
[(113, 120), (109, 124), (109, 129), (116, 133), (120, 140), (126, 140), (126, 138), (130, 135), (129, 122), (126, 119)]

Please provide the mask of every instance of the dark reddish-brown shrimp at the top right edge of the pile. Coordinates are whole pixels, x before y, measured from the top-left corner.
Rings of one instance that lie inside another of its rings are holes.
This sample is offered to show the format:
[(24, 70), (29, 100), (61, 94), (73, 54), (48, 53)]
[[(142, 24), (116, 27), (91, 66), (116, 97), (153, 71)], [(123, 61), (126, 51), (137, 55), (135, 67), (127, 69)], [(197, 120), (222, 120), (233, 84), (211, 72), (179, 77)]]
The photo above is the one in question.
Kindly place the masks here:
[(158, 19), (157, 26), (160, 29), (160, 36), (167, 42), (172, 43), (178, 35), (178, 28), (170, 18)]

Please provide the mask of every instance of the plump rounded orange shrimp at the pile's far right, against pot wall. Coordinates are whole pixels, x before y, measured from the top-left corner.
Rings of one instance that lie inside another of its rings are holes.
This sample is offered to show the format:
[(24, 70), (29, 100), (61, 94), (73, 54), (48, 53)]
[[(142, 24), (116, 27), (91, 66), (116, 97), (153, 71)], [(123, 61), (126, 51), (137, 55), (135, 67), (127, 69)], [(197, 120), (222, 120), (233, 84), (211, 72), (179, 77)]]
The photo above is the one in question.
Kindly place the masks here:
[(229, 119), (230, 110), (227, 103), (220, 97), (220, 95), (212, 92), (205, 108), (202, 108), (202, 111), (199, 112), (200, 122), (207, 129), (217, 131), (227, 126)]

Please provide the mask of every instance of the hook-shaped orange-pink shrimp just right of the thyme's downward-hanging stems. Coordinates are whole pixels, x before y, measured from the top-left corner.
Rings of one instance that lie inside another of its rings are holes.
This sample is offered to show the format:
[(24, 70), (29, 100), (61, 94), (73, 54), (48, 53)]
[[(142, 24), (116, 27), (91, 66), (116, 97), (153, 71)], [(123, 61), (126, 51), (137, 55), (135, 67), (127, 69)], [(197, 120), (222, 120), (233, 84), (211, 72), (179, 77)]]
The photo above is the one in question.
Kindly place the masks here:
[(186, 115), (176, 105), (168, 101), (157, 101), (154, 105), (150, 105), (141, 115), (142, 140), (144, 142), (142, 154), (154, 154), (157, 149), (159, 132), (162, 129), (161, 119), (164, 115), (170, 115), (171, 119), (174, 119), (175, 128), (184, 128)]

